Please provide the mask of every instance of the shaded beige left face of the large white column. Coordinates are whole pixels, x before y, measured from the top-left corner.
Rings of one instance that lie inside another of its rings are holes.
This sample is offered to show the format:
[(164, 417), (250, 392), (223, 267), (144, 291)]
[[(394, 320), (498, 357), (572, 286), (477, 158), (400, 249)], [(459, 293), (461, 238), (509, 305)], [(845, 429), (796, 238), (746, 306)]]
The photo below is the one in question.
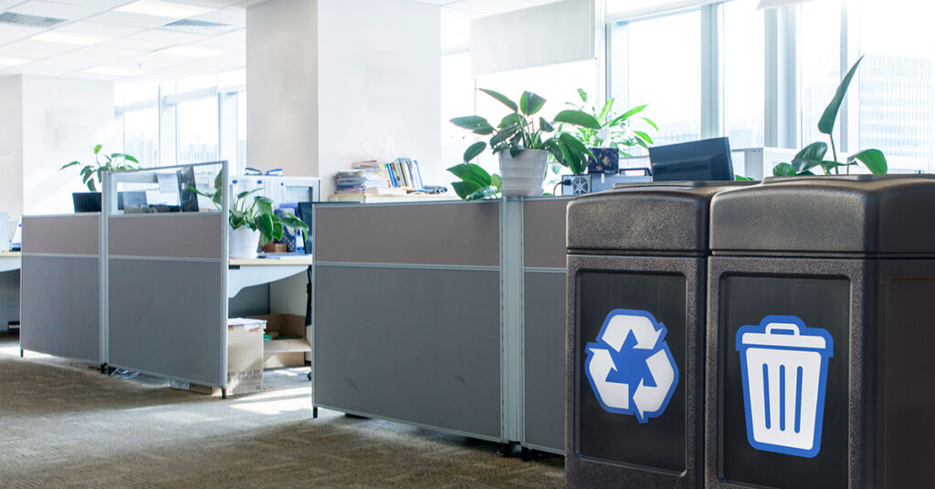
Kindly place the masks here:
[(247, 165), (318, 171), (318, 2), (247, 9)]

